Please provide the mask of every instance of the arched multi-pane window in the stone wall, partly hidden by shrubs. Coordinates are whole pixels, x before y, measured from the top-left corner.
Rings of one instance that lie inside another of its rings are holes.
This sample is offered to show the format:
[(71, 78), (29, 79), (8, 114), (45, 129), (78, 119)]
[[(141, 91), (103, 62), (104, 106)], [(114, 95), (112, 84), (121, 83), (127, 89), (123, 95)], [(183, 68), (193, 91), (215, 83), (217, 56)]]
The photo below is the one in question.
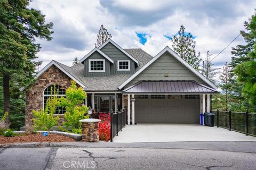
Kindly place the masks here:
[[(44, 89), (44, 109), (46, 106), (47, 99), (53, 95), (52, 91), (54, 90), (54, 88), (55, 88), (55, 92), (57, 93), (58, 98), (60, 98), (61, 96), (63, 96), (63, 97), (66, 96), (66, 91), (61, 86), (59, 86), (59, 85), (48, 86), (46, 89)], [(65, 112), (66, 112), (65, 107), (57, 107), (55, 114), (64, 114)]]

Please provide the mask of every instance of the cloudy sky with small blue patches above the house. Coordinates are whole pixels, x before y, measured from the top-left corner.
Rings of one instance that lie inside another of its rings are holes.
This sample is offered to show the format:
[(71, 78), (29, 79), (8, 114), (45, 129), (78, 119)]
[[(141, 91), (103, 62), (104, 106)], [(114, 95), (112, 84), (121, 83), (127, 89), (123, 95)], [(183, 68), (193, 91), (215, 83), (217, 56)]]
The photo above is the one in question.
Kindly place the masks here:
[[(51, 60), (71, 66), (75, 57), (85, 56), (95, 47), (101, 24), (122, 48), (141, 48), (152, 56), (172, 48), (170, 37), (183, 24), (196, 41), (196, 52), (204, 59), (210, 50), (214, 57), (244, 29), (256, 1), (34, 0), (30, 7), (54, 24), (51, 41), (37, 40), (42, 69)], [(213, 60), (215, 67), (229, 62), (231, 47), (238, 44), (244, 44), (241, 36)]]

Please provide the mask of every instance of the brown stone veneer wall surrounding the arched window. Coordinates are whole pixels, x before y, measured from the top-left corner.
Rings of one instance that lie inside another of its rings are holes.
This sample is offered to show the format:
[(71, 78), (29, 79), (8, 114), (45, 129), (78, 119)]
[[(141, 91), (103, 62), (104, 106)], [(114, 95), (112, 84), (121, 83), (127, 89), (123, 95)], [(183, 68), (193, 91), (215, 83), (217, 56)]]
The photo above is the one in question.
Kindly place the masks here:
[[(58, 84), (65, 90), (70, 86), (71, 79), (59, 70), (55, 65), (46, 70), (36, 82), (26, 91), (26, 126), (33, 125), (32, 111), (40, 111), (43, 108), (44, 89), (52, 84)], [(59, 115), (59, 125), (64, 121), (63, 115)]]

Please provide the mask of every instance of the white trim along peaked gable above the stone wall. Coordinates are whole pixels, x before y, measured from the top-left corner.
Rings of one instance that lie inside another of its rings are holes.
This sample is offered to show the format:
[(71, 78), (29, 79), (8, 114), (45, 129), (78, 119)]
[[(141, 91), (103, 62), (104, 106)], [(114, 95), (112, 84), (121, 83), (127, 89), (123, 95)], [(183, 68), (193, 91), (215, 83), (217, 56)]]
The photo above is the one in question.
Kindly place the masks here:
[[(63, 69), (62, 66), (60, 66), (57, 62), (55, 62), (54, 60), (52, 60), (50, 63), (48, 63), (45, 67), (43, 67), (43, 69), (41, 71), (39, 71), (36, 75), (36, 79), (39, 78), (46, 70), (48, 70), (52, 65), (57, 66), (58, 69), (60, 69), (63, 73), (65, 73), (69, 78), (75, 80), (75, 82), (77, 84), (79, 84), (79, 86), (81, 86), (82, 88), (87, 88), (84, 86), (84, 84), (77, 80), (75, 77), (73, 77), (73, 75), (71, 75), (69, 72), (67, 72), (65, 69)], [(20, 88), (20, 91), (25, 90), (24, 87)]]

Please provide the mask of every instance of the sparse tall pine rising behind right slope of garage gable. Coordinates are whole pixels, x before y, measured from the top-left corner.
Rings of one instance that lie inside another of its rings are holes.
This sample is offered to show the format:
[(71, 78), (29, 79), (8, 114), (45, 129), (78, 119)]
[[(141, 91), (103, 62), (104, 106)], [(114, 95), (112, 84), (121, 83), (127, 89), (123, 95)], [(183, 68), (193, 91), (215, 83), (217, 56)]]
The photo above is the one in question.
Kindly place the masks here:
[(201, 58), (199, 58), (200, 53), (196, 54), (196, 42), (193, 40), (190, 32), (185, 32), (183, 25), (180, 26), (178, 34), (172, 37), (172, 43), (174, 52), (188, 64), (199, 70), (199, 64), (201, 62)]

